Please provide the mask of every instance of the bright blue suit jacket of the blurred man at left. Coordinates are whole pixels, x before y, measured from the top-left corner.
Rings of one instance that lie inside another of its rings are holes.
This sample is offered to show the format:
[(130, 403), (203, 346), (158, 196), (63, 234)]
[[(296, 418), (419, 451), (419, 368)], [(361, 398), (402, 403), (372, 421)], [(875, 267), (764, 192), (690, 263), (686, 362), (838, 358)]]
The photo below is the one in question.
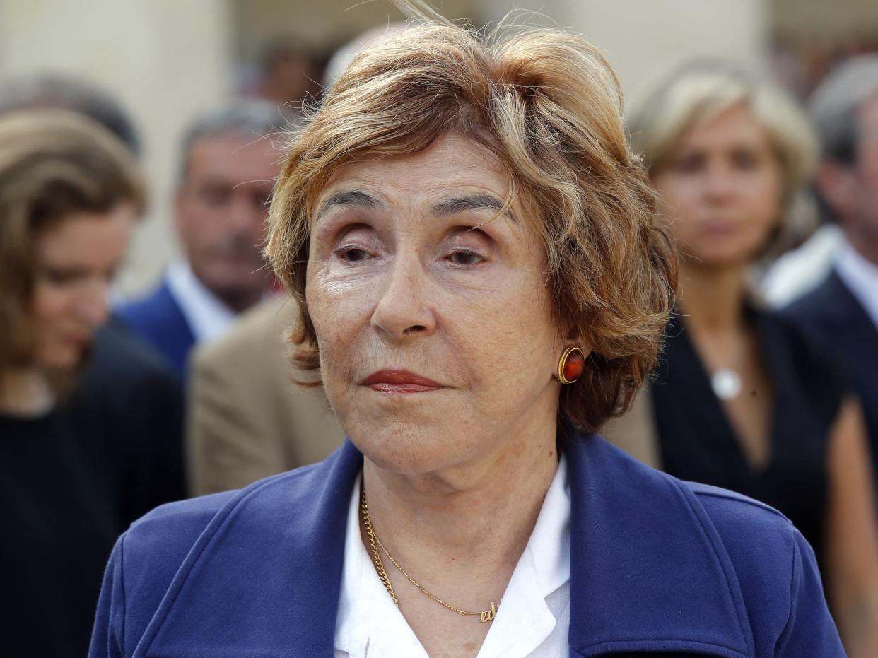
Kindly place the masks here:
[(185, 379), (189, 351), (195, 345), (195, 334), (171, 294), (167, 281), (162, 281), (146, 297), (119, 306), (116, 314), (134, 333), (155, 347), (181, 379)]

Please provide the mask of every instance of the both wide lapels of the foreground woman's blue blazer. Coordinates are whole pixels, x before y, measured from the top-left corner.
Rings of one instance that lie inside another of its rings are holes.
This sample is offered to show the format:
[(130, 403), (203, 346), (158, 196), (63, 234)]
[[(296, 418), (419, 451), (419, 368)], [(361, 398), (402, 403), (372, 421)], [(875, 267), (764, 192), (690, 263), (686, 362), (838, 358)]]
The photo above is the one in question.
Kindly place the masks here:
[[(729, 557), (687, 487), (600, 437), (566, 452), (571, 654), (752, 655)], [(194, 635), (205, 655), (331, 656), (362, 464), (346, 441), (327, 461), (241, 491), (192, 547), (134, 655), (181, 654)]]

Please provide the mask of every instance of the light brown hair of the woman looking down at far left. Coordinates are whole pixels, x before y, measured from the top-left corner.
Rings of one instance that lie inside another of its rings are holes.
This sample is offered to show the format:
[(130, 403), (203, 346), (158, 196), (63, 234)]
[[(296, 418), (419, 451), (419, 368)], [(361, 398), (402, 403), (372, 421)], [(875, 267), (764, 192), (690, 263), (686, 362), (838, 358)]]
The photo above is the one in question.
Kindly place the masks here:
[(104, 127), (58, 110), (0, 117), (0, 375), (32, 362), (27, 310), (40, 232), (123, 203), (140, 213), (145, 183), (133, 154)]

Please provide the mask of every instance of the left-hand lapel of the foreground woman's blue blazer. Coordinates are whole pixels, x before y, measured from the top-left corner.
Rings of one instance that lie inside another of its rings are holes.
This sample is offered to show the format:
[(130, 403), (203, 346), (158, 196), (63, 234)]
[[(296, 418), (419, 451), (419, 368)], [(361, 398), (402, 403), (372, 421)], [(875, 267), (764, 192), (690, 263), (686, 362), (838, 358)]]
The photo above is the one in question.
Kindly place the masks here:
[(351, 487), (363, 455), (256, 483), (192, 547), (134, 655), (333, 655)]

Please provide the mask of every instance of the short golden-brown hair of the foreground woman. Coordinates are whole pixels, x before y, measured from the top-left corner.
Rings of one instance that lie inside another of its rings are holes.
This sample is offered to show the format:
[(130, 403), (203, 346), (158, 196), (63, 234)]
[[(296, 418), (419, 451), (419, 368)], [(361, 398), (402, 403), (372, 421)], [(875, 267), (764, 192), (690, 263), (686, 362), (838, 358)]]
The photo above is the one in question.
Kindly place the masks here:
[(563, 389), (561, 417), (592, 432), (627, 408), (655, 364), (676, 261), (622, 110), (607, 61), (564, 32), (485, 37), (431, 14), (358, 54), (291, 135), (271, 205), (266, 251), (301, 313), (296, 364), (320, 367), (305, 289), (314, 204), (329, 177), (451, 132), (504, 164), (510, 198), (542, 240), (558, 326), (593, 350)]

